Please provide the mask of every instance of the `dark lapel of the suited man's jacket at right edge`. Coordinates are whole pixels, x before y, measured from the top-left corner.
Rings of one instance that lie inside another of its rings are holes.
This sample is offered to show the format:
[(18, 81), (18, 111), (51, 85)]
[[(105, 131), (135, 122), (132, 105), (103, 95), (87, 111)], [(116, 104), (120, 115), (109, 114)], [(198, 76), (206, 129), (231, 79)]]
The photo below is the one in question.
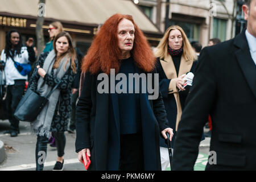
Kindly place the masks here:
[(256, 97), (256, 66), (250, 55), (250, 49), (246, 40), (245, 31), (234, 40), (234, 45), (239, 49), (235, 52), (238, 64), (242, 69), (249, 88)]

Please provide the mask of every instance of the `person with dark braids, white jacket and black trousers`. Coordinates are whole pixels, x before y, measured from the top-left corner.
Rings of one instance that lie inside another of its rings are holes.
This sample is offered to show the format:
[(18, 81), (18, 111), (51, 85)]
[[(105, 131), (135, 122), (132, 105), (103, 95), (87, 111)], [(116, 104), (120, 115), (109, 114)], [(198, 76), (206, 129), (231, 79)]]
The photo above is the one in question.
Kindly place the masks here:
[[(26, 46), (22, 46), (22, 36), (17, 30), (10, 30), (6, 34), (5, 49), (1, 53), (1, 60), (5, 62), (4, 80), (7, 85), (6, 109), (11, 129), (5, 131), (11, 137), (19, 134), (19, 120), (14, 117), (14, 111), (23, 96), (25, 82), (28, 75), (22, 75), (15, 67), (15, 64), (30, 64), (35, 61), (35, 52), (32, 47), (34, 39), (30, 38)], [(15, 63), (15, 62), (16, 63)]]

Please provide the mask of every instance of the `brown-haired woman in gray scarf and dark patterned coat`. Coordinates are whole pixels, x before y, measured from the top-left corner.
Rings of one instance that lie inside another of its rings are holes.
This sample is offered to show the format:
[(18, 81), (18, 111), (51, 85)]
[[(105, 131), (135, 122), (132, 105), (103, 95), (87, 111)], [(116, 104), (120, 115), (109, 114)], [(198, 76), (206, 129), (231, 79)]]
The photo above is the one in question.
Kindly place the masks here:
[(43, 170), (44, 164), (40, 161), (40, 156), (42, 152), (46, 156), (51, 132), (57, 147), (57, 162), (53, 170), (63, 170), (66, 142), (64, 131), (67, 131), (71, 111), (71, 88), (76, 73), (75, 57), (71, 36), (67, 32), (60, 32), (53, 40), (53, 50), (40, 55), (30, 80), (29, 87), (40, 96), (47, 96), (59, 84), (51, 94), (48, 104), (32, 123), (32, 129), (37, 134), (37, 171)]

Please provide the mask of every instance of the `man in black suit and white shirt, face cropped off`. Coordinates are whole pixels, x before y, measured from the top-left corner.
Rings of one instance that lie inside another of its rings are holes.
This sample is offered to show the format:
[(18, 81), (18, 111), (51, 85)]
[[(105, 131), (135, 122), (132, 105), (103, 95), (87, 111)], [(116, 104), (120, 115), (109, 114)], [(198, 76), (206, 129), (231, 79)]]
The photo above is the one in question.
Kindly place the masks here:
[(247, 29), (200, 54), (174, 146), (172, 170), (193, 170), (212, 117), (206, 170), (256, 169), (256, 0), (242, 6)]

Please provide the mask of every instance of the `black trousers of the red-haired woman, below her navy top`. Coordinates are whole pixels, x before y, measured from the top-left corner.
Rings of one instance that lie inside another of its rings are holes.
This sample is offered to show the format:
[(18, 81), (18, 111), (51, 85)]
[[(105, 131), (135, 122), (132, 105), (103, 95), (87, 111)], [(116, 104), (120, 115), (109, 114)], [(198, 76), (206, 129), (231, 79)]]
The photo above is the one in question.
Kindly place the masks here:
[(120, 171), (143, 171), (143, 142), (142, 134), (126, 134), (120, 138), (121, 151)]

